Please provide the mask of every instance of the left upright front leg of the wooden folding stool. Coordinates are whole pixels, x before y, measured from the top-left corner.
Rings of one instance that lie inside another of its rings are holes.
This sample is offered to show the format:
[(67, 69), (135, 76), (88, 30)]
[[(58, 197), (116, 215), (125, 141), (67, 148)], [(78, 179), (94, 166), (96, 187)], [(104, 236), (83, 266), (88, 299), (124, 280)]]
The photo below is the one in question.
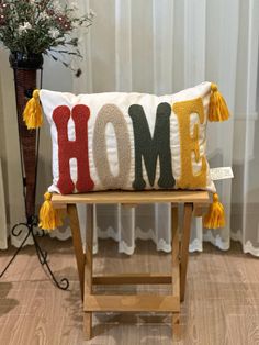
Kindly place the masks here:
[[(86, 267), (85, 267), (85, 299), (87, 299), (88, 296), (92, 294), (92, 238), (93, 238), (93, 205), (88, 204)], [(83, 332), (87, 341), (89, 341), (92, 337), (92, 312), (83, 312)]]

